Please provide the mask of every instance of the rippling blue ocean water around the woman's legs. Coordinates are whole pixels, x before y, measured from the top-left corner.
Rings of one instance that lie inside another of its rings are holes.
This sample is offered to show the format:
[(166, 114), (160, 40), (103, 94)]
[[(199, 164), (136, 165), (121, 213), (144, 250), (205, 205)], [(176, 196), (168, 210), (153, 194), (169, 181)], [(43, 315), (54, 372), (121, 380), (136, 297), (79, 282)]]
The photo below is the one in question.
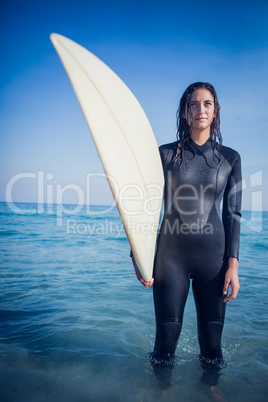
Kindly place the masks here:
[(190, 293), (163, 391), (148, 360), (152, 290), (136, 280), (117, 210), (17, 207), (0, 203), (1, 401), (267, 400), (267, 212), (243, 213), (218, 384), (201, 381)]

